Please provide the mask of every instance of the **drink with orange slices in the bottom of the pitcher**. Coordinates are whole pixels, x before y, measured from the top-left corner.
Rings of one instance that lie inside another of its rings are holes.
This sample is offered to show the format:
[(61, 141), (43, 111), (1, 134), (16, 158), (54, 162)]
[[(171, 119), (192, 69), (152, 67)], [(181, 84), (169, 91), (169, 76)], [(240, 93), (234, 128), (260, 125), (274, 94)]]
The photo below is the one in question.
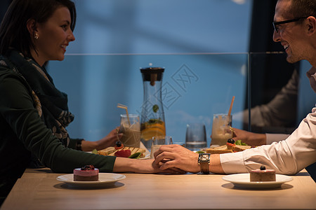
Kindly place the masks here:
[(152, 137), (166, 135), (166, 128), (164, 125), (164, 121), (159, 120), (159, 119), (150, 119), (147, 122), (142, 123), (140, 130), (141, 130), (140, 141), (143, 142), (146, 148), (151, 148)]

